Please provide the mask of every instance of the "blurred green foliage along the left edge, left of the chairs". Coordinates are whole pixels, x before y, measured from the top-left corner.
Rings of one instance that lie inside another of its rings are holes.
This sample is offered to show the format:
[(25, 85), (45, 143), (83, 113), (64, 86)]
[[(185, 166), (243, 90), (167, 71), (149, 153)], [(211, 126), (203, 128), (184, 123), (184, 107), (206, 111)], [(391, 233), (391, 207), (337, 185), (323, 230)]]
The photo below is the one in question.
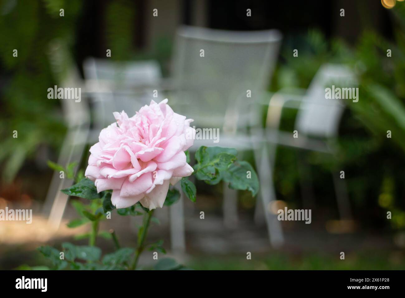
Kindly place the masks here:
[[(13, 180), (40, 145), (58, 149), (62, 143), (66, 129), (59, 102), (47, 99), (47, 88), (55, 82), (47, 49), (56, 38), (74, 40), (81, 6), (79, 0), (5, 0), (0, 4), (0, 60), (7, 77), (0, 96), (4, 182)], [(61, 8), (65, 10), (63, 21)]]

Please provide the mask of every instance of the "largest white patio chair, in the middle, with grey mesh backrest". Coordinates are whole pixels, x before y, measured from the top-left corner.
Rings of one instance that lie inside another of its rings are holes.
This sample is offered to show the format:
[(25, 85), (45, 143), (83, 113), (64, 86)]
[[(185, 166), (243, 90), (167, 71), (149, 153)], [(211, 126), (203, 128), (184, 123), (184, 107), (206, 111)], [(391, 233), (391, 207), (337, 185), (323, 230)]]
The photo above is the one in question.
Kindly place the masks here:
[[(190, 26), (178, 29), (172, 78), (176, 96), (171, 97), (171, 104), (179, 114), (193, 118), (196, 128), (220, 129), (218, 143), (196, 139), (191, 151), (200, 146), (252, 150), (249, 134), (244, 130), (248, 122), (243, 121), (249, 111), (243, 107), (269, 85), (280, 42), (277, 30), (236, 32)], [(251, 92), (251, 97), (247, 92)], [(223, 212), (225, 226), (235, 228), (237, 191), (227, 185)], [(179, 214), (182, 217), (182, 211)]]

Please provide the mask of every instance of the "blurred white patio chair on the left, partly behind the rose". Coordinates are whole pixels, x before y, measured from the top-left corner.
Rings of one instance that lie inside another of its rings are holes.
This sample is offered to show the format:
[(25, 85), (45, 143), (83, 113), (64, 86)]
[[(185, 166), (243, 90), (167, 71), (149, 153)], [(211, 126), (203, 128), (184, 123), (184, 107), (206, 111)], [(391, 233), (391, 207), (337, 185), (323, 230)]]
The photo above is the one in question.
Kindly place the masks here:
[[(50, 58), (62, 87), (82, 88), (80, 103), (62, 100), (68, 133), (58, 158), (61, 165), (81, 160), (85, 146), (97, 142), (101, 129), (115, 121), (113, 111), (124, 109), (128, 114), (131, 111), (135, 114), (142, 105), (149, 104), (152, 90), (157, 88), (161, 78), (160, 66), (155, 61), (122, 63), (89, 58), (84, 63), (85, 77), (89, 79), (83, 83), (64, 47), (54, 47)], [(92, 129), (87, 96), (94, 112)], [(49, 214), (49, 223), (54, 228), (59, 227), (68, 201), (68, 196), (60, 189), (72, 184), (59, 175), (58, 172), (53, 174), (44, 204), (44, 213)]]

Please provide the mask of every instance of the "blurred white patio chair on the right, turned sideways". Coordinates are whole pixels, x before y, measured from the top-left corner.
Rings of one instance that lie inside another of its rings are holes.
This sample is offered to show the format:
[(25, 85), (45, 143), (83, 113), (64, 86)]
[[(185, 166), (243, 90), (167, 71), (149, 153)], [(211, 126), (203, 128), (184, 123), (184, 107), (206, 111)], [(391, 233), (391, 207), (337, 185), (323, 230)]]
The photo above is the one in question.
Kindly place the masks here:
[[(276, 146), (285, 145), (329, 154), (336, 153), (335, 140), (339, 122), (345, 101), (348, 99), (326, 99), (325, 88), (331, 88), (332, 85), (345, 88), (356, 87), (356, 77), (346, 66), (324, 64), (316, 73), (305, 94), (288, 94), (283, 91), (275, 93), (269, 102), (263, 141), (254, 138), (257, 146), (256, 165), (261, 182), (260, 197), (263, 204), (260, 206), (260, 201), (256, 202), (255, 219), (258, 222), (265, 214), (271, 242), (276, 246), (283, 243), (280, 226), (274, 225), (278, 222), (277, 214), (273, 214), (270, 210), (271, 203), (276, 199), (273, 182)], [(293, 137), (293, 132), (279, 131), (283, 108), (298, 109), (294, 126), (298, 132), (298, 138)], [(268, 164), (271, 167), (268, 167)], [(339, 173), (332, 174), (340, 217), (350, 219), (351, 211), (345, 183), (339, 178)]]

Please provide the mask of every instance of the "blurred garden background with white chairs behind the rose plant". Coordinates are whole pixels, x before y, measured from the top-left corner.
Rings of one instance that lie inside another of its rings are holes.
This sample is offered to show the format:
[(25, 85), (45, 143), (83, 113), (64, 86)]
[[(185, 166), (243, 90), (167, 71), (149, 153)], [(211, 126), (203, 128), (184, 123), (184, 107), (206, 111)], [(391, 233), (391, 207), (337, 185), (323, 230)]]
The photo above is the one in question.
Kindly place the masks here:
[[(45, 243), (87, 242), (88, 225), (66, 226), (79, 199), (58, 197), (72, 180), (49, 161), (75, 161), (80, 175), (113, 111), (166, 97), (197, 127), (220, 128), (208, 146), (233, 140), (262, 188), (196, 182), (195, 204), (156, 213), (149, 238), (168, 255), (193, 269), (404, 269), (404, 29), (395, 0), (1, 0), (0, 209), (34, 218), (0, 221), (0, 269), (47, 265)], [(342, 77), (359, 101), (329, 100), (325, 113), (317, 90)], [(81, 101), (49, 99), (55, 85), (81, 88)], [(312, 223), (274, 221), (285, 206), (311, 209)], [(135, 243), (137, 219), (113, 219), (102, 229)]]

